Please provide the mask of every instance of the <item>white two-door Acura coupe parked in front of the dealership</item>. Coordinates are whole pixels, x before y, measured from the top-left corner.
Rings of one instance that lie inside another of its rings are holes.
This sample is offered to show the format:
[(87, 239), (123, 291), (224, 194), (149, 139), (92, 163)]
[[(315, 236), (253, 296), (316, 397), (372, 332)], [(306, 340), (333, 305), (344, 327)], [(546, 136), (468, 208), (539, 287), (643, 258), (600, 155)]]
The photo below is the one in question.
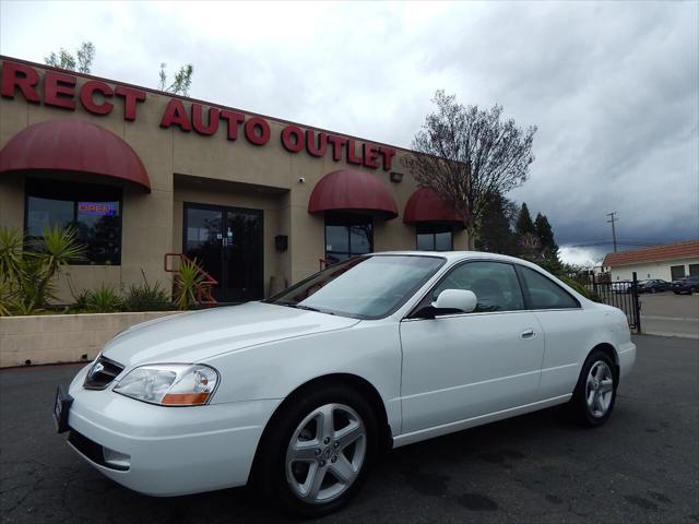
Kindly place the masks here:
[(58, 389), (55, 417), (137, 491), (251, 483), (318, 516), (391, 448), (557, 404), (600, 426), (635, 358), (620, 310), (534, 264), (377, 253), (268, 300), (130, 327)]

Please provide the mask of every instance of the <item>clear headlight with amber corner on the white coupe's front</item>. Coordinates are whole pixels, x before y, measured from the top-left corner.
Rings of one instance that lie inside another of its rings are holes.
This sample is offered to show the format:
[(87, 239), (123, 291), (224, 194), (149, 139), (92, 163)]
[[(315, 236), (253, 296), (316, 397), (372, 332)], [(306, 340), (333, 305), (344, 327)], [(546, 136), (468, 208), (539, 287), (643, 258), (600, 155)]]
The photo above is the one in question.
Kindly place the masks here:
[(162, 406), (206, 404), (218, 384), (218, 372), (200, 364), (155, 364), (131, 370), (114, 391)]

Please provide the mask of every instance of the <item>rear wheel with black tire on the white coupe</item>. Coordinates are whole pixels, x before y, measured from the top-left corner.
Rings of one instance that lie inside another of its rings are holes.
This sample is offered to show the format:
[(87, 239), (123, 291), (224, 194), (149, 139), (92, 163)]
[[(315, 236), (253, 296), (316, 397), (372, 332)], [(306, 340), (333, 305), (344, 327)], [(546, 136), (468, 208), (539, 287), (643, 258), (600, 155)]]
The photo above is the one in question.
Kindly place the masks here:
[(593, 350), (582, 366), (569, 403), (573, 418), (588, 427), (602, 426), (614, 410), (617, 385), (609, 356), (600, 349)]

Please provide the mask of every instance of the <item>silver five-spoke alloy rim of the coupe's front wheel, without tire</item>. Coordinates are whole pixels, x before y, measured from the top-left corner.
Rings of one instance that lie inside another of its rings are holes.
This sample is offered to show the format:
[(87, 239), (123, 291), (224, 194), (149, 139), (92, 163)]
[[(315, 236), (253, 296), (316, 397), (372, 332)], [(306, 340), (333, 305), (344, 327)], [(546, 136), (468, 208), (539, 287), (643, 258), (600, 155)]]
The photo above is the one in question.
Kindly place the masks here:
[(357, 479), (366, 451), (362, 417), (344, 404), (325, 404), (306, 416), (292, 434), (286, 481), (307, 503), (331, 502)]

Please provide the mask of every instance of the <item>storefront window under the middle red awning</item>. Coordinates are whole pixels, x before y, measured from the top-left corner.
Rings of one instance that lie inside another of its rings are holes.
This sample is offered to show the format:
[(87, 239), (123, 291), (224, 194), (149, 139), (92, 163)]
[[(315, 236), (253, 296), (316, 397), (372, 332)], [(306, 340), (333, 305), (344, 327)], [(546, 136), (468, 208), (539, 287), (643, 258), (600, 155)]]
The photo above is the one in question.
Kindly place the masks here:
[(374, 249), (374, 222), (370, 216), (325, 213), (325, 260), (331, 263)]

